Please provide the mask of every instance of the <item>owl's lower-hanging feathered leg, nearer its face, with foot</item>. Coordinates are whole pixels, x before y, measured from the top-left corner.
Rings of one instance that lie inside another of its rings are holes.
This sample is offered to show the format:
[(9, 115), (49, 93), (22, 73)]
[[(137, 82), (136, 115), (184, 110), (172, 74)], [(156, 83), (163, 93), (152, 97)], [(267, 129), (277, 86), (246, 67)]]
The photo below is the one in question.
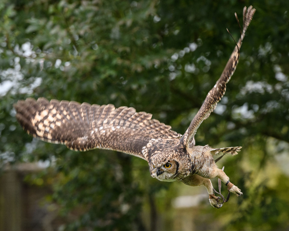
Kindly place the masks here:
[(213, 191), (213, 185), (210, 179), (201, 177), (199, 175), (192, 175), (185, 177), (182, 180), (183, 183), (190, 185), (190, 186), (200, 186), (204, 185), (207, 188), (208, 194), (209, 194), (209, 201), (210, 204), (214, 208), (221, 208), (221, 198), (219, 196), (215, 196), (214, 191)]

